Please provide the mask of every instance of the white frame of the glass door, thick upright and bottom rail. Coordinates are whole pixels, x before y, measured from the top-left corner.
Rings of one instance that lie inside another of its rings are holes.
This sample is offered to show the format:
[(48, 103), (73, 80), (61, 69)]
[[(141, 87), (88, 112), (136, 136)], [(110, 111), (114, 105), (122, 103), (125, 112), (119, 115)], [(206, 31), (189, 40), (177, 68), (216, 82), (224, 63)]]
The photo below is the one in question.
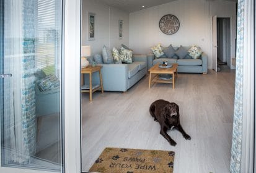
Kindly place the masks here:
[[(81, 172), (80, 120), (80, 36), (81, 0), (64, 2), (64, 163), (65, 172)], [(1, 129), (0, 129), (1, 133)], [(1, 167), (5, 173), (50, 173), (23, 168)]]

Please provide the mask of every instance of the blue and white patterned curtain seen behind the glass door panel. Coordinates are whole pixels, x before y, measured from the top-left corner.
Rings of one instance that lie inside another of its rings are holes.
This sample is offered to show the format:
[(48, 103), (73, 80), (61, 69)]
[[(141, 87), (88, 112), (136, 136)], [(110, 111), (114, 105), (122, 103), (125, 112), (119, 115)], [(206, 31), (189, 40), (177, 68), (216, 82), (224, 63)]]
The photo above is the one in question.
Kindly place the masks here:
[(34, 3), (4, 1), (4, 164), (28, 164), (36, 150)]

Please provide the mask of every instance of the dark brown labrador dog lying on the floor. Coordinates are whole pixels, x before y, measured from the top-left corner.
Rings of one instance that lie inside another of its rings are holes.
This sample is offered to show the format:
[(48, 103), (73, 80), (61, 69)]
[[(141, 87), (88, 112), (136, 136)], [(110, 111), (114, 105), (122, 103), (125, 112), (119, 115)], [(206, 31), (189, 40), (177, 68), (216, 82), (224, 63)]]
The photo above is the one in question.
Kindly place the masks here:
[(149, 112), (154, 120), (159, 122), (161, 126), (160, 134), (169, 141), (170, 145), (176, 145), (176, 142), (167, 134), (167, 130), (173, 128), (179, 130), (186, 140), (191, 140), (191, 137), (180, 125), (179, 106), (176, 103), (158, 99), (151, 104)]

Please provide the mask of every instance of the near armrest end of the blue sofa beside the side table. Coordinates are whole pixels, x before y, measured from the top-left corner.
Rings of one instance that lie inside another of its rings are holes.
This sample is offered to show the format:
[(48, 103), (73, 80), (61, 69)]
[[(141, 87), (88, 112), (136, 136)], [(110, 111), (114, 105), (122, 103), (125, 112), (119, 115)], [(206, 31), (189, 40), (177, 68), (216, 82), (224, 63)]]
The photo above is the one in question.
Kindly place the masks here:
[[(102, 83), (105, 91), (126, 91), (128, 88), (127, 64), (98, 64), (102, 65)], [(89, 84), (89, 75), (84, 75), (84, 82)], [(98, 72), (92, 74), (92, 84), (100, 84)]]

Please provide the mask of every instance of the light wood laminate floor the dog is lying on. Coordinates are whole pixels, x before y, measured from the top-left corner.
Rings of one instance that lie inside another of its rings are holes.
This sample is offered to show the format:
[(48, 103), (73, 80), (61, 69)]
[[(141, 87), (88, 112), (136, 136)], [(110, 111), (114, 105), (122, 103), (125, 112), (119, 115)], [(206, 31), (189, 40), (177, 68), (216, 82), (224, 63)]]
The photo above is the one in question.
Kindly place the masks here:
[[(89, 103), (82, 94), (82, 171), (88, 171), (105, 147), (175, 151), (174, 173), (229, 172), (234, 111), (234, 70), (218, 74), (179, 74), (175, 89), (148, 76), (127, 93), (97, 92)], [(169, 131), (177, 145), (159, 134), (160, 125), (149, 114), (156, 99), (175, 102), (180, 122), (192, 137)]]

